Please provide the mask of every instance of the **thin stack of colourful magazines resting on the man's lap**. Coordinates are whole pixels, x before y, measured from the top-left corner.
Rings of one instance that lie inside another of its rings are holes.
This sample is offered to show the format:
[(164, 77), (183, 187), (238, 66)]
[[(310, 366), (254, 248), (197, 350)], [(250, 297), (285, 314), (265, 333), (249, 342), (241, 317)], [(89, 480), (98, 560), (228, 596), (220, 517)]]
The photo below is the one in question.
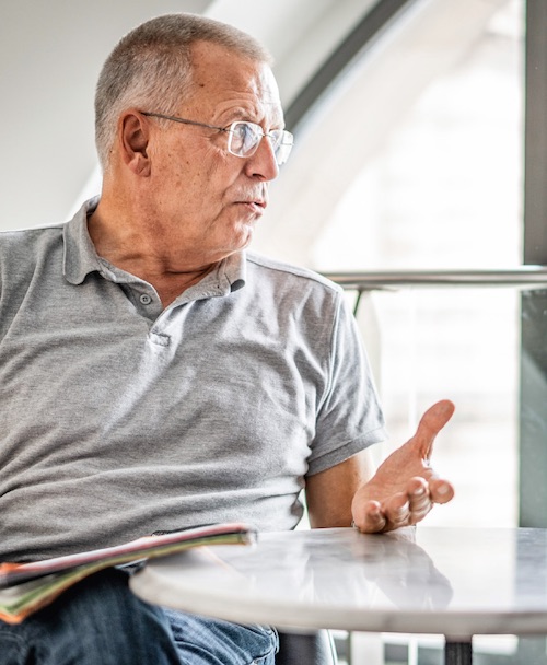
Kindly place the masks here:
[(72, 584), (105, 568), (143, 564), (148, 559), (202, 545), (248, 545), (254, 540), (255, 532), (244, 524), (214, 524), (32, 563), (0, 563), (0, 619), (20, 623)]

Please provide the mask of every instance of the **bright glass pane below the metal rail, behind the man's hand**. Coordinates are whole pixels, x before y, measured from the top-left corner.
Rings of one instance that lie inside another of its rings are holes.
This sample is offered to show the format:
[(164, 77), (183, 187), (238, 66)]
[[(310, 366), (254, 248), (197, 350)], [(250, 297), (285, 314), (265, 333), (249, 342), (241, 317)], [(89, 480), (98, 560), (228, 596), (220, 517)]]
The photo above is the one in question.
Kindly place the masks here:
[[(382, 457), (407, 441), (421, 413), (449, 398), (456, 412), (433, 465), (456, 487), (428, 526), (516, 526), (520, 292), (511, 288), (403, 288), (368, 296), (358, 313), (389, 430)], [(365, 305), (366, 308), (366, 305)], [(380, 340), (380, 341), (379, 341)]]

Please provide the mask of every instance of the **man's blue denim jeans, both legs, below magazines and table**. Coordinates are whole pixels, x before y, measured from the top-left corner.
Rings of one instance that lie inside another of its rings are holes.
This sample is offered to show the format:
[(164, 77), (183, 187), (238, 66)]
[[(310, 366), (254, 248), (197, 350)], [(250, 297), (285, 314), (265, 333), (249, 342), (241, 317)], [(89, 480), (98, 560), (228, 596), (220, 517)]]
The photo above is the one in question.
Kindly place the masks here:
[(277, 638), (261, 627), (164, 610), (109, 569), (16, 626), (0, 620), (1, 665), (274, 665)]

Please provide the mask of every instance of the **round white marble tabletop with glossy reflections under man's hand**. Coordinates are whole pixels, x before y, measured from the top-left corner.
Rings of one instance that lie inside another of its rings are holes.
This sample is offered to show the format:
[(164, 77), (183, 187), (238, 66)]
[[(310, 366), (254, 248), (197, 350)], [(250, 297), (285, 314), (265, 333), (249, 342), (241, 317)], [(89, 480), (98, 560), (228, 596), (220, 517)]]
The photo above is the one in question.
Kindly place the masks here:
[(259, 534), (151, 561), (130, 584), (152, 603), (279, 628), (544, 634), (547, 529)]

